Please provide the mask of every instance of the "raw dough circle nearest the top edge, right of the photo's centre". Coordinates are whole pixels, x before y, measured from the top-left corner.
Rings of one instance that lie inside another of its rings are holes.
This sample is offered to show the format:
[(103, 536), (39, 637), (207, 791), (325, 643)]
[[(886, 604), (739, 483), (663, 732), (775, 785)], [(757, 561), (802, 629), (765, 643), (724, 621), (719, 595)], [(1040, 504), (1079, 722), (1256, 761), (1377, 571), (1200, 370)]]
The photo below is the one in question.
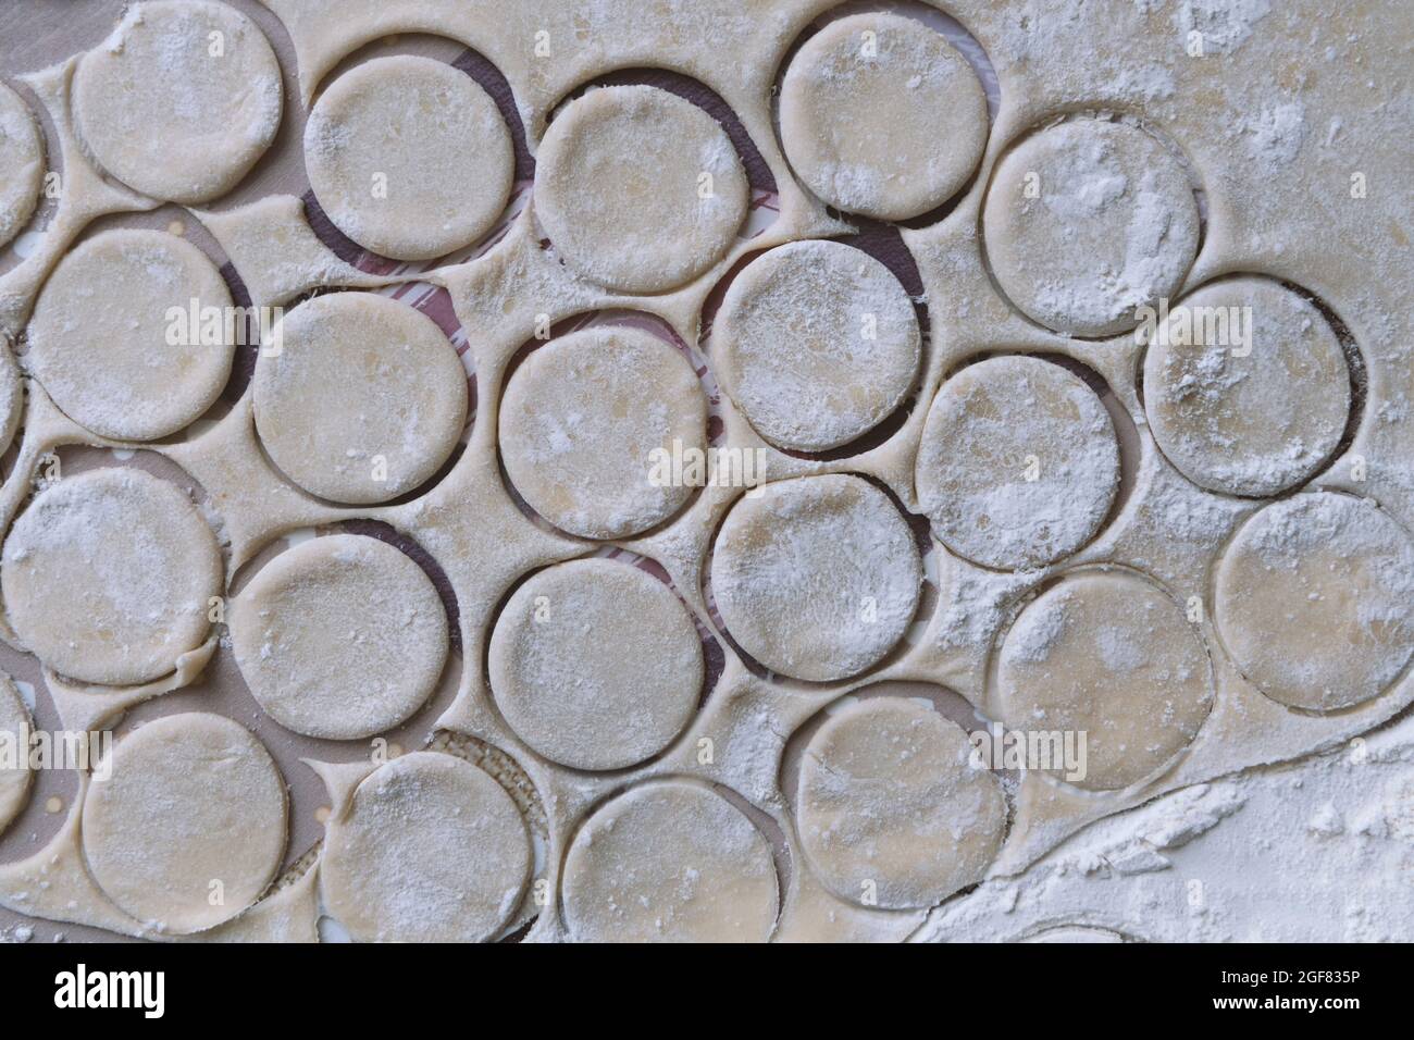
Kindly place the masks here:
[(781, 143), (816, 195), (905, 221), (967, 183), (987, 146), (987, 93), (942, 33), (898, 14), (833, 21), (781, 83)]

